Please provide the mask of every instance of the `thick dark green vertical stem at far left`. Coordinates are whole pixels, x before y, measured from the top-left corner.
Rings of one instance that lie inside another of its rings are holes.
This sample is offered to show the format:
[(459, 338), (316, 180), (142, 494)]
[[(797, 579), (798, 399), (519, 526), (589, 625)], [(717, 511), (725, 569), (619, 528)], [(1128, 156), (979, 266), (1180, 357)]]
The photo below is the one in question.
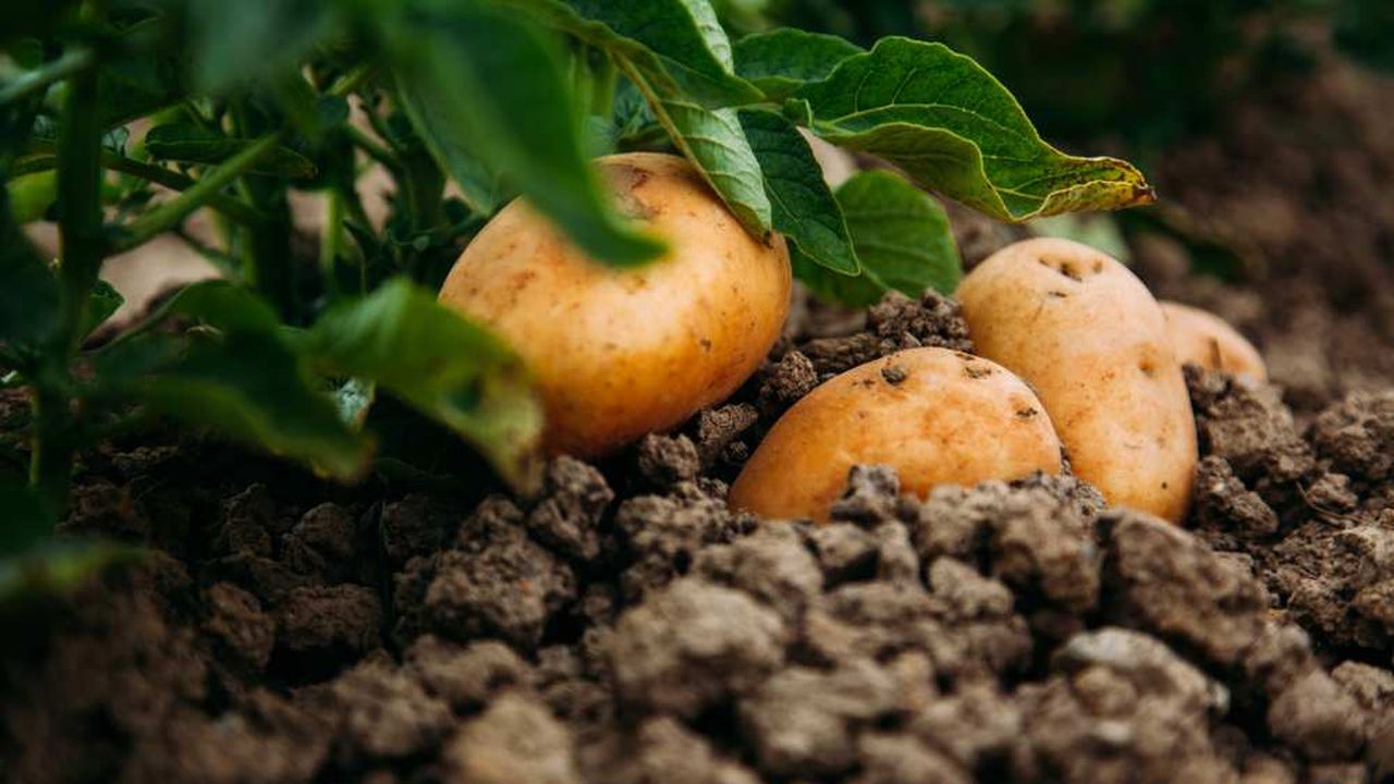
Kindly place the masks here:
[(88, 299), (105, 251), (100, 120), (96, 71), (77, 71), (63, 103), (59, 137), (59, 237), (63, 246), (59, 325), (31, 396), (35, 435), (29, 483), (54, 513), (67, 506), (72, 473), (70, 363), (82, 340)]

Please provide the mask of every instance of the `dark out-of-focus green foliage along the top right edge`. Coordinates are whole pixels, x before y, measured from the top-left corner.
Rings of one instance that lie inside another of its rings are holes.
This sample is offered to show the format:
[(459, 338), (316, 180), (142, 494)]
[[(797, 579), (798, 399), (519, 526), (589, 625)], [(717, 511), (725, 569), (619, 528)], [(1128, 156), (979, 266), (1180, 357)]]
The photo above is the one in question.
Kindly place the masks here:
[(1313, 38), (1394, 67), (1387, 0), (771, 0), (750, 24), (863, 45), (941, 40), (1009, 85), (1047, 137), (1121, 137), (1142, 155), (1213, 127), (1238, 96), (1305, 73)]

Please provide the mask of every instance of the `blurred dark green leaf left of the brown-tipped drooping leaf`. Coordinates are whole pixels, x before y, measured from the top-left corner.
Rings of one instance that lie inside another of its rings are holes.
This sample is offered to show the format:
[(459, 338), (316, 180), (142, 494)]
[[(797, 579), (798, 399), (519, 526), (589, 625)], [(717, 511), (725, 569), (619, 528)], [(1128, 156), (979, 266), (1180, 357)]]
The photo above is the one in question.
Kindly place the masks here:
[[(181, 336), (152, 328), (201, 324)], [(208, 427), (337, 478), (367, 469), (372, 441), (348, 428), (297, 343), (262, 299), (223, 280), (194, 283), (141, 329), (95, 354), (102, 395)]]

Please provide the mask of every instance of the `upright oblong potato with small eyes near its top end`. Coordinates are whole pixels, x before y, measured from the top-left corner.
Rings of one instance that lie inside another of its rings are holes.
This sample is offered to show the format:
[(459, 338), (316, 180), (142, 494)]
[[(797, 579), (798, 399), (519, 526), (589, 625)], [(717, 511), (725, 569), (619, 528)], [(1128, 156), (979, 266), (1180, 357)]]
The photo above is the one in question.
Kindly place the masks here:
[(1071, 466), (1111, 504), (1179, 522), (1196, 425), (1167, 321), (1126, 266), (1059, 239), (1008, 246), (958, 289), (977, 352), (1040, 395)]

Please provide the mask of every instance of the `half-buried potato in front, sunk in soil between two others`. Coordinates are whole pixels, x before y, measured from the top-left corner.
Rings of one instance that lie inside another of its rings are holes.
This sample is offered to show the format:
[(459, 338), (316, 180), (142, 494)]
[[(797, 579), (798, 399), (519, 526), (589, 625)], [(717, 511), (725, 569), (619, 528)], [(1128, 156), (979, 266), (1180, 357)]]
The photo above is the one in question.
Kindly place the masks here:
[(730, 505), (827, 522), (855, 465), (885, 465), (901, 487), (974, 485), (1061, 470), (1036, 395), (981, 357), (909, 349), (855, 367), (795, 403), (750, 456)]

